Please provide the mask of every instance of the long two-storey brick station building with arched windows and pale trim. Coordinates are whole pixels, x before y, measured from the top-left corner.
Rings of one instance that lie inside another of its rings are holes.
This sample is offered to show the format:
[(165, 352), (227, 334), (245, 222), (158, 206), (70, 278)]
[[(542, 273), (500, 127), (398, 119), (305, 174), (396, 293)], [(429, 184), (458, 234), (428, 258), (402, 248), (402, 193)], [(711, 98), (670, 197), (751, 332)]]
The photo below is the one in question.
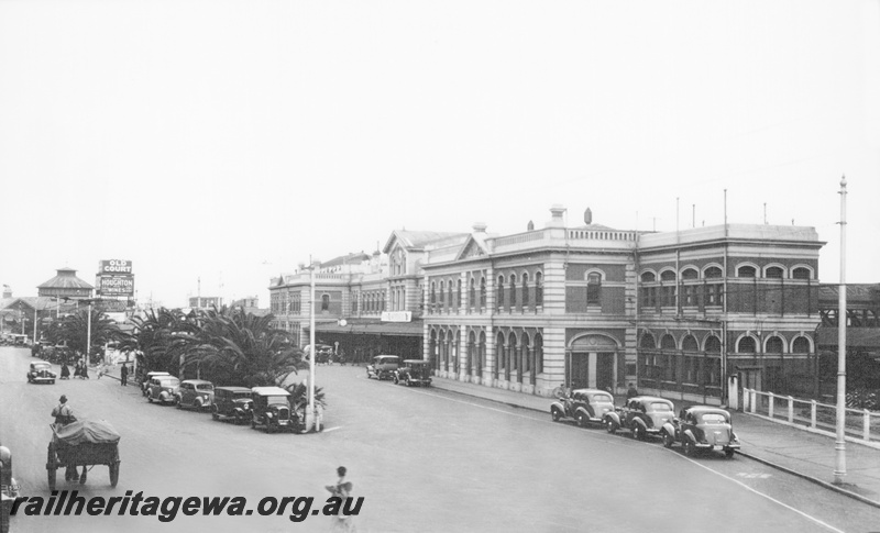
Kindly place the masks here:
[(811, 391), (824, 244), (814, 229), (622, 231), (588, 210), (568, 227), (564, 212), (513, 235), (484, 224), (393, 232), (382, 253), (322, 265), (314, 302), (310, 273), (273, 279), (272, 312), (299, 334), (314, 306), (319, 342), (385, 338), (365, 354), (424, 358), (438, 376), (522, 393), (632, 382), (726, 403), (743, 386)]

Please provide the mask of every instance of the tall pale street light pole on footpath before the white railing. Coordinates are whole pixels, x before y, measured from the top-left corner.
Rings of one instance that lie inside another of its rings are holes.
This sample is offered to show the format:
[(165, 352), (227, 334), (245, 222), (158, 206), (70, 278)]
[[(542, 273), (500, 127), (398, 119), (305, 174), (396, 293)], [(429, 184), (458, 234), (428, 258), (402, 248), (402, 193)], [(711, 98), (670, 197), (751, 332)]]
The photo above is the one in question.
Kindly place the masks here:
[(837, 441), (834, 482), (846, 476), (846, 176), (840, 178), (840, 293), (837, 301)]

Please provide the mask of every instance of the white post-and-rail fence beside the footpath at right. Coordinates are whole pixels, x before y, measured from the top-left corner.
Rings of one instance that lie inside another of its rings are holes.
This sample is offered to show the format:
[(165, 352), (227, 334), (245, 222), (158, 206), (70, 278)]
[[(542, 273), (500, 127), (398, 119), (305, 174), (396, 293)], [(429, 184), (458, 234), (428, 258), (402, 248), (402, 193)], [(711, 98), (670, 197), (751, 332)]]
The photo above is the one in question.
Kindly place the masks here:
[[(836, 432), (837, 406), (816, 400), (744, 388), (743, 411), (805, 429), (831, 434)], [(847, 437), (880, 443), (880, 412), (847, 408), (844, 426)]]

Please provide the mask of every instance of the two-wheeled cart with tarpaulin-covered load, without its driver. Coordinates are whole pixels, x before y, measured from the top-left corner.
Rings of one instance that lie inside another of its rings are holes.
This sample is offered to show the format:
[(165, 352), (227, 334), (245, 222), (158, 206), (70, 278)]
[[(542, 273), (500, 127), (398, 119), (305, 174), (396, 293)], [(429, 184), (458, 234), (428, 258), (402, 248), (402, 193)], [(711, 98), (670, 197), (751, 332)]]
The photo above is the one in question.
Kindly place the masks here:
[[(50, 424), (52, 442), (48, 443), (46, 475), (50, 490), (55, 490), (58, 468), (66, 468), (66, 481), (86, 482), (86, 473), (95, 465), (110, 467), (110, 486), (119, 481), (119, 433), (103, 420), (78, 421), (67, 425)], [(82, 467), (79, 476), (77, 467)]]

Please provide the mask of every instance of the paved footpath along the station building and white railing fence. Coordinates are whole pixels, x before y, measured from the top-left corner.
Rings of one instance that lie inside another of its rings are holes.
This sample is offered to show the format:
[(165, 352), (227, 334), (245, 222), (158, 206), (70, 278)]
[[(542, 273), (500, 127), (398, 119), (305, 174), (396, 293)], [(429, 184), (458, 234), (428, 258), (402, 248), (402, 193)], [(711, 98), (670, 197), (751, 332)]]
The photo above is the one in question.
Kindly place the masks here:
[[(431, 385), (450, 392), (542, 412), (550, 418), (550, 398), (440, 377), (432, 377)], [(616, 403), (622, 404), (623, 398), (617, 397)], [(880, 449), (847, 442), (846, 475), (843, 484), (835, 485), (834, 437), (738, 411), (732, 411), (730, 415), (734, 431), (743, 445), (739, 455), (880, 508)]]

